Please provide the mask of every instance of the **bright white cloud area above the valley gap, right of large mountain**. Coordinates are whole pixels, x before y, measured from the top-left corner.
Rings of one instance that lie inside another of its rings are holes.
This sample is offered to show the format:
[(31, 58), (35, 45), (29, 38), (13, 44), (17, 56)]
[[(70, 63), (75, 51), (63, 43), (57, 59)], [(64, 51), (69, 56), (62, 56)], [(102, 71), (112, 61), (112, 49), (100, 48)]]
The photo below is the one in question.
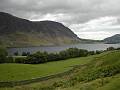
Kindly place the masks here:
[(120, 33), (119, 17), (100, 17), (82, 24), (70, 26), (80, 38), (102, 40)]

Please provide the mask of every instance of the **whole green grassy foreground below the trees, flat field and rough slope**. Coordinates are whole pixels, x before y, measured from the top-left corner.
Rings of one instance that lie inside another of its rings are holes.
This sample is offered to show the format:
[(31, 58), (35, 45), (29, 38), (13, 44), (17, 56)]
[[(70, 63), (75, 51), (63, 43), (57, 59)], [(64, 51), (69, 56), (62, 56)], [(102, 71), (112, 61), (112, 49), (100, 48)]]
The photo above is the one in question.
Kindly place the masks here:
[(0, 90), (120, 90), (120, 51), (37, 65), (1, 64), (0, 80), (42, 77), (83, 64), (70, 75)]

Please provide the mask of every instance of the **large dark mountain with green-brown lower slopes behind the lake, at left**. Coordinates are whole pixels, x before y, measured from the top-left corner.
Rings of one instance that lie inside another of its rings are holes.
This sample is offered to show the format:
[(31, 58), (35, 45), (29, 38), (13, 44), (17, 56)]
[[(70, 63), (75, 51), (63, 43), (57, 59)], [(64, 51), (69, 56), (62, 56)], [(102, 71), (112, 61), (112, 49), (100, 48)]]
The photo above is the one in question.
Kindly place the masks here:
[(80, 39), (68, 27), (54, 21), (29, 21), (0, 12), (0, 44), (7, 46), (63, 45)]

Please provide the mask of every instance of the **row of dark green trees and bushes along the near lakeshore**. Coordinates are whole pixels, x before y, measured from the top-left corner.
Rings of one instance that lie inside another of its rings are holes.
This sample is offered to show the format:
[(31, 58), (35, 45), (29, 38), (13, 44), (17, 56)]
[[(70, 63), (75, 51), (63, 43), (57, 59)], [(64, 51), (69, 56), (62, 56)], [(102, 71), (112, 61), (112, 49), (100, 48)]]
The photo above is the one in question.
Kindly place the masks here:
[[(110, 50), (120, 50), (120, 48), (113, 48), (109, 47), (105, 51)], [(85, 49), (78, 49), (78, 48), (69, 48), (59, 53), (47, 53), (47, 52), (36, 52), (34, 54), (30, 54), (29, 52), (23, 52), (22, 56), (25, 57), (13, 57), (8, 56), (7, 51), (5, 48), (0, 48), (0, 63), (24, 63), (24, 64), (40, 64), (46, 63), (51, 61), (60, 61), (66, 60), (69, 58), (76, 58), (76, 57), (86, 57), (89, 55), (100, 54), (104, 51), (88, 51)], [(14, 55), (18, 56), (18, 52)]]

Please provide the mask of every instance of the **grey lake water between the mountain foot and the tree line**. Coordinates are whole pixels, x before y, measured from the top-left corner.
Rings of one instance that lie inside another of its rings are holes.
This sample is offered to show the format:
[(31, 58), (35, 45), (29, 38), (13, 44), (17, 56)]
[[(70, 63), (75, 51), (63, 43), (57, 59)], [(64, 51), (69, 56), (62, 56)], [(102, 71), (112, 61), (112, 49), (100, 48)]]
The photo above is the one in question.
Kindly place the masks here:
[(35, 53), (37, 51), (47, 51), (47, 52), (59, 52), (65, 50), (67, 48), (76, 47), (79, 49), (86, 49), (89, 51), (95, 50), (105, 50), (108, 47), (120, 47), (120, 44), (74, 44), (74, 45), (64, 45), (64, 46), (40, 46), (40, 47), (22, 47), (22, 48), (8, 48), (8, 54), (13, 55), (15, 52), (18, 51), (19, 54), (22, 52), (30, 52)]

